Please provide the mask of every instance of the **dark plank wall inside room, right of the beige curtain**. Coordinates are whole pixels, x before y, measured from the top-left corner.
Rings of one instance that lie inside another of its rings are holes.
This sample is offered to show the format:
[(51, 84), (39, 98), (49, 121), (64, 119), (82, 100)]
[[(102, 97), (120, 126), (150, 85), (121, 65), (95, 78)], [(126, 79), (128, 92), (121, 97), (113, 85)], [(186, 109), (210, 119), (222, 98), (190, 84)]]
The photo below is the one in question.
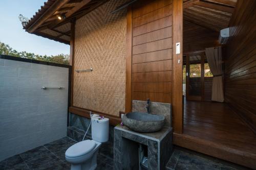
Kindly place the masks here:
[(225, 102), (256, 133), (256, 2), (237, 2), (224, 48)]

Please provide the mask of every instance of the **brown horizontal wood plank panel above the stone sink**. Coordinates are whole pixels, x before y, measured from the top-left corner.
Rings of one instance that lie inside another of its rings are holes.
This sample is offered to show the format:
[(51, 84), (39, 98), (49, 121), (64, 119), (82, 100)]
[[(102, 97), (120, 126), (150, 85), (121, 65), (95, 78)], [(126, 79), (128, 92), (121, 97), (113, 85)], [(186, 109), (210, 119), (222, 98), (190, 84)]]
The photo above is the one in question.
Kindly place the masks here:
[(172, 0), (138, 1), (133, 8), (132, 100), (172, 103), (170, 9)]

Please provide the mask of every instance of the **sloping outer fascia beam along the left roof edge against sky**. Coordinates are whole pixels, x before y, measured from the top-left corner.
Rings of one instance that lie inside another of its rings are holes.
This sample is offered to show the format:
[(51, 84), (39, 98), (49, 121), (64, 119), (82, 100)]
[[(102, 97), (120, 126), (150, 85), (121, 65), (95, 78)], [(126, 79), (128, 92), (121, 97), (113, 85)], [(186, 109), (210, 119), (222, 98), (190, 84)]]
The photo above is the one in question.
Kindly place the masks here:
[(44, 23), (50, 16), (54, 14), (55, 11), (57, 11), (60, 7), (68, 3), (69, 0), (57, 0), (54, 2), (53, 5), (51, 5), (50, 8), (47, 9), (47, 11), (42, 14), (28, 29), (27, 31), (29, 33), (33, 33), (42, 23)]

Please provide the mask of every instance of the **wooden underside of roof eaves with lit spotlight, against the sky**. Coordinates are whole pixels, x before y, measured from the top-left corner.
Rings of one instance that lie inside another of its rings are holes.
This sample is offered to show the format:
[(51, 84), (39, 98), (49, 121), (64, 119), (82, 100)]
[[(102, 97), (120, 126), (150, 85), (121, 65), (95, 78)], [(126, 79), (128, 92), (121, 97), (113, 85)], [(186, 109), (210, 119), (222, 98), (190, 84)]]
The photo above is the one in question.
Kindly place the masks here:
[[(101, 6), (108, 0), (48, 0), (26, 23), (29, 33), (70, 44), (71, 21)], [(58, 19), (65, 16), (65, 19)]]

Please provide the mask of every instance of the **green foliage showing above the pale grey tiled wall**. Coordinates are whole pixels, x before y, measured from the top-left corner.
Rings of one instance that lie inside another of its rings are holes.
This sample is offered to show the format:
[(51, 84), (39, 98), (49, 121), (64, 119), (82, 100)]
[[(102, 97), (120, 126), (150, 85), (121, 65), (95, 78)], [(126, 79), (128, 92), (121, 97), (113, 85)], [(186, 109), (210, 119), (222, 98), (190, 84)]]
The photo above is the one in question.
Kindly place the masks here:
[(57, 56), (41, 56), (34, 53), (28, 53), (26, 51), (17, 52), (16, 50), (13, 50), (8, 44), (5, 44), (1, 41), (0, 54), (69, 65), (69, 55), (67, 54), (59, 54)]

